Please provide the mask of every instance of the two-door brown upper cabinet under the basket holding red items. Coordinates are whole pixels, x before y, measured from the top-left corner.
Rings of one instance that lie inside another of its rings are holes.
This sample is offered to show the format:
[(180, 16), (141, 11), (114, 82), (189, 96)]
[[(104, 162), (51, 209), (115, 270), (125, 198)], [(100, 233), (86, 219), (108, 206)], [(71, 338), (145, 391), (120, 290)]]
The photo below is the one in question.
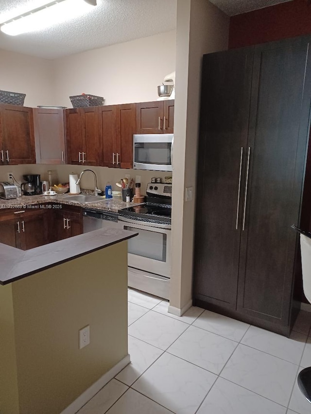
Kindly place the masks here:
[(98, 108), (66, 109), (68, 164), (103, 165), (103, 142), (99, 136)]

